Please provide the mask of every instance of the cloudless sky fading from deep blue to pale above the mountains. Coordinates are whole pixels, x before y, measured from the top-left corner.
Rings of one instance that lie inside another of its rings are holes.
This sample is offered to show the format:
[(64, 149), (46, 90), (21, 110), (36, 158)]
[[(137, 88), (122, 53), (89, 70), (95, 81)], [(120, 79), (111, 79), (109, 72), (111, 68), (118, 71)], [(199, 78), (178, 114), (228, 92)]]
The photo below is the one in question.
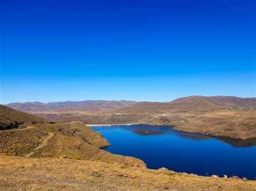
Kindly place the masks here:
[(0, 103), (255, 97), (255, 1), (4, 0)]

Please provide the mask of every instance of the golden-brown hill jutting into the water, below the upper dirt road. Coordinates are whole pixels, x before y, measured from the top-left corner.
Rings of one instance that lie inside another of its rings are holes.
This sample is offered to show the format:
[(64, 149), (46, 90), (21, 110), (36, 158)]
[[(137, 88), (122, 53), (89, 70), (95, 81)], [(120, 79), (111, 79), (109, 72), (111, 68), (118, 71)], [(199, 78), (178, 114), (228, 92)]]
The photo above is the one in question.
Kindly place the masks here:
[[(49, 133), (54, 135), (48, 140), (48, 144), (37, 149), (49, 137)], [(109, 145), (100, 133), (80, 122), (35, 125), (26, 129), (0, 131), (0, 154), (100, 160), (146, 167), (142, 160), (99, 149)]]

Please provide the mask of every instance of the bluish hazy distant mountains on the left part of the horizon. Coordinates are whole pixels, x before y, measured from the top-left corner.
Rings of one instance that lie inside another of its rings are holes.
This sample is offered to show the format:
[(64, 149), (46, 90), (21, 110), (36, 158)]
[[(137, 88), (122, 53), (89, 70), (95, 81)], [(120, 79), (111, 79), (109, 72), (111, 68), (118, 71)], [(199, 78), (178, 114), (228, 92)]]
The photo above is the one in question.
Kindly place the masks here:
[(110, 111), (124, 107), (129, 107), (136, 102), (134, 101), (103, 101), (103, 100), (86, 100), (86, 101), (65, 101), (65, 102), (25, 102), (25, 103), (9, 103), (6, 106), (25, 112), (37, 111)]

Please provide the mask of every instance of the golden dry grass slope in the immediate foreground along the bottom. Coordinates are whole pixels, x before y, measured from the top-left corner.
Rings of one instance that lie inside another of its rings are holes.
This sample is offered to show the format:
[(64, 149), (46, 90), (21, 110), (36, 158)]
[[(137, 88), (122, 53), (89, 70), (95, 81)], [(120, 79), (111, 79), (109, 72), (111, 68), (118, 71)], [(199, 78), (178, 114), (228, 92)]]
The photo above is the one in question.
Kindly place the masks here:
[(99, 161), (0, 155), (1, 190), (256, 190), (256, 181), (213, 178)]

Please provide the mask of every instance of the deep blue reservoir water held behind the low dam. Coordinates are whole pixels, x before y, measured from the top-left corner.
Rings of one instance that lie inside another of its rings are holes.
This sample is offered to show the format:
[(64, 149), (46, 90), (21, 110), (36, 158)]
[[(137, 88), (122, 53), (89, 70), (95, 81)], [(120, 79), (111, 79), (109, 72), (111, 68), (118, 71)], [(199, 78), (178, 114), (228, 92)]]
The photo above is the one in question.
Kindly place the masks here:
[(198, 175), (256, 177), (256, 140), (213, 138), (173, 126), (97, 126), (114, 154), (142, 159), (148, 168), (166, 167)]

